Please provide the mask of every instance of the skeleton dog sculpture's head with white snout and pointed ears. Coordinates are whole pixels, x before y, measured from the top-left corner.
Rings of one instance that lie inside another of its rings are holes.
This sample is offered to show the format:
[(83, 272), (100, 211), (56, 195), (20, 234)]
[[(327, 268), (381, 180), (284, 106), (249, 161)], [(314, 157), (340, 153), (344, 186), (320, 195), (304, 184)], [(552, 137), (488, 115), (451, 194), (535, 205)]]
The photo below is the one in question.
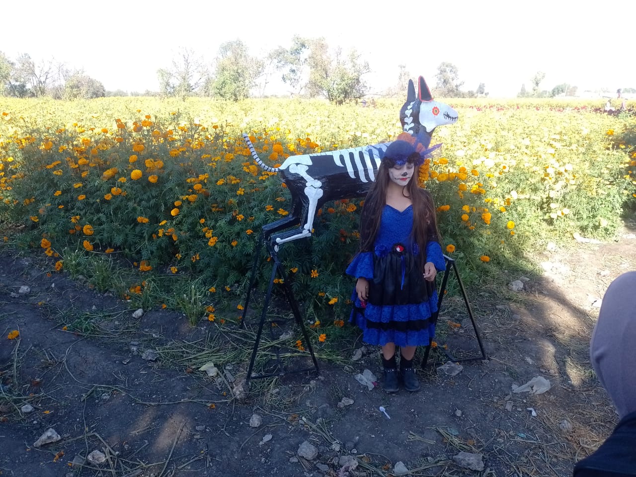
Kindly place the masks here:
[(408, 80), (406, 102), (399, 111), (399, 120), (404, 132), (414, 135), (425, 148), (431, 144), (433, 130), (441, 125), (452, 124), (457, 121), (457, 111), (448, 104), (436, 101), (431, 96), (431, 90), (424, 78), (418, 79), (417, 97), (415, 85)]

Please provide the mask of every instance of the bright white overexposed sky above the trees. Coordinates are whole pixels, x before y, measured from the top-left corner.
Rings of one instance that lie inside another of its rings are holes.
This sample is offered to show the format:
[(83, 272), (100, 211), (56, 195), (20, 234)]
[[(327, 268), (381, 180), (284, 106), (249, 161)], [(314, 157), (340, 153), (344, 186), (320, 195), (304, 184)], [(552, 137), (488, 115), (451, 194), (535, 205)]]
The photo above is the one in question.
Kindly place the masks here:
[[(377, 6), (372, 6), (377, 4)], [(0, 51), (15, 60), (66, 62), (107, 90), (157, 90), (156, 70), (179, 47), (212, 60), (240, 38), (252, 55), (289, 47), (294, 34), (324, 36), (370, 62), (375, 90), (394, 85), (398, 65), (434, 86), (440, 62), (459, 68), (464, 90), (486, 85), (491, 97), (514, 96), (544, 71), (542, 89), (636, 88), (632, 47), (636, 1), (399, 0), (179, 2), (32, 0), (4, 2)], [(267, 93), (274, 93), (271, 88)]]

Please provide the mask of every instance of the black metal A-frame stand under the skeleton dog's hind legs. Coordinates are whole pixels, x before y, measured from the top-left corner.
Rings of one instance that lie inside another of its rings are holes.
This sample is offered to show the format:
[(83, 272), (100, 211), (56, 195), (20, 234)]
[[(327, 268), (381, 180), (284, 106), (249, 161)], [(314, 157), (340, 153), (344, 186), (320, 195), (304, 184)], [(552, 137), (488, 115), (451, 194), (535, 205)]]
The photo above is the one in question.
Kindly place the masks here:
[[(263, 237), (263, 239), (268, 240), (269, 237)], [(259, 240), (259, 246), (258, 246), (258, 251), (260, 251), (260, 247), (261, 247), (261, 242), (262, 240)], [(279, 245), (280, 246), (280, 245)], [(315, 371), (315, 373), (319, 373), (319, 367), (318, 367), (318, 361), (315, 357), (314, 354), (314, 347), (312, 347), (312, 343), (309, 339), (309, 336), (307, 334), (307, 328), (305, 328), (305, 323), (303, 322), (302, 316), (300, 314), (300, 308), (298, 308), (298, 302), (296, 301), (296, 298), (294, 297), (293, 291), (291, 290), (291, 287), (289, 286), (289, 283), (287, 282), (287, 276), (284, 270), (284, 267), (282, 266), (282, 263), (280, 262), (280, 259), (278, 257), (277, 251), (275, 249), (275, 246), (272, 243), (272, 240), (268, 240), (266, 242), (266, 247), (267, 250), (270, 254), (270, 257), (273, 260), (273, 266), (272, 266), (272, 275), (270, 275), (270, 282), (268, 284), (267, 287), (267, 293), (265, 295), (265, 303), (263, 303), (263, 311), (261, 312), (261, 320), (259, 322), (258, 325), (258, 331), (256, 332), (256, 340), (254, 341), (254, 348), (252, 349), (252, 355), (250, 357), (249, 360), (249, 367), (247, 368), (247, 378), (245, 378), (245, 387), (247, 388), (247, 386), (249, 385), (249, 381), (252, 379), (261, 379), (261, 378), (269, 378), (269, 377), (274, 377), (274, 376), (280, 376), (285, 374), (285, 371), (283, 370), (283, 366), (282, 363), (280, 361), (280, 355), (277, 353), (277, 368), (279, 369), (278, 373), (269, 373), (269, 374), (259, 374), (259, 375), (252, 375), (252, 371), (254, 370), (254, 363), (256, 361), (256, 354), (258, 353), (258, 347), (259, 347), (259, 343), (261, 341), (261, 336), (263, 334), (263, 326), (265, 326), (265, 318), (267, 315), (267, 310), (268, 307), (270, 305), (270, 300), (272, 298), (272, 289), (273, 289), (273, 284), (274, 284), (274, 280), (276, 278), (276, 275), (278, 274), (280, 276), (280, 279), (282, 280), (282, 286), (283, 286), (283, 291), (285, 294), (285, 298), (287, 300), (287, 303), (289, 303), (289, 307), (291, 308), (293, 314), (294, 314), (294, 318), (296, 320), (296, 324), (298, 324), (300, 326), (300, 329), (303, 333), (303, 338), (305, 338), (305, 343), (307, 344), (307, 350), (309, 351), (309, 354), (312, 358), (312, 363), (314, 364), (314, 366), (310, 367), (310, 368), (304, 368), (301, 370), (292, 370), (292, 371), (287, 371), (287, 373), (302, 373), (302, 372), (307, 372), (307, 371)], [(258, 260), (259, 257), (257, 256), (254, 259), (254, 266), (252, 267), (252, 277), (250, 280), (250, 289), (247, 291), (247, 296), (245, 298), (245, 306), (244, 306), (244, 310), (243, 310), (243, 319), (242, 321), (245, 321), (245, 312), (247, 310), (247, 303), (249, 302), (249, 296), (250, 296), (250, 292), (251, 292), (251, 288), (254, 286), (254, 275), (256, 273), (256, 267), (258, 265)], [(244, 326), (244, 325), (242, 325)]]

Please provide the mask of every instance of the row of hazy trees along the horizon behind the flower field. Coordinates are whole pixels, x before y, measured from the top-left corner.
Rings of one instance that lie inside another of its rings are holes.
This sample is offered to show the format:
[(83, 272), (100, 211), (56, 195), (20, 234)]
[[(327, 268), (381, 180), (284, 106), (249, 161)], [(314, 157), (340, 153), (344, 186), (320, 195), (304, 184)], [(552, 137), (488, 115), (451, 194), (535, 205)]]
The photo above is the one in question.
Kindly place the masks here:
[[(322, 97), (336, 104), (363, 99), (370, 93), (366, 78), (369, 63), (356, 52), (330, 48), (324, 38), (294, 36), (289, 46), (278, 46), (265, 57), (252, 55), (240, 39), (223, 43), (211, 62), (200, 53), (181, 48), (158, 71), (158, 91), (143, 95), (178, 97), (216, 97), (242, 100), (251, 95), (263, 96), (266, 86), (279, 79), (293, 97)], [(406, 66), (399, 65), (396, 82), (375, 95), (402, 96), (409, 79)], [(464, 91), (459, 69), (442, 62), (435, 75), (436, 97), (487, 96), (484, 83)], [(432, 82), (429, 81), (429, 84)], [(55, 99), (90, 99), (128, 95), (122, 90), (106, 91), (99, 79), (81, 69), (73, 69), (56, 60), (36, 62), (27, 53), (10, 59), (0, 52), (0, 94), (13, 97), (53, 97)], [(132, 92), (130, 95), (141, 95)]]

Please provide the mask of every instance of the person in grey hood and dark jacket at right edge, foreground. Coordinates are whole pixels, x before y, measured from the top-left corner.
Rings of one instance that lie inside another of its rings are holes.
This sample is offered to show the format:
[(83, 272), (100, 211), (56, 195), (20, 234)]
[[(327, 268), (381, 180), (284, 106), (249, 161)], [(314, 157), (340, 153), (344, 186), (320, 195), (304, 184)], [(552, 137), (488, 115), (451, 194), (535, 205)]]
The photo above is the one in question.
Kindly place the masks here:
[(574, 477), (636, 476), (636, 272), (623, 273), (605, 296), (590, 343), (591, 364), (618, 412), (609, 438), (574, 466)]

